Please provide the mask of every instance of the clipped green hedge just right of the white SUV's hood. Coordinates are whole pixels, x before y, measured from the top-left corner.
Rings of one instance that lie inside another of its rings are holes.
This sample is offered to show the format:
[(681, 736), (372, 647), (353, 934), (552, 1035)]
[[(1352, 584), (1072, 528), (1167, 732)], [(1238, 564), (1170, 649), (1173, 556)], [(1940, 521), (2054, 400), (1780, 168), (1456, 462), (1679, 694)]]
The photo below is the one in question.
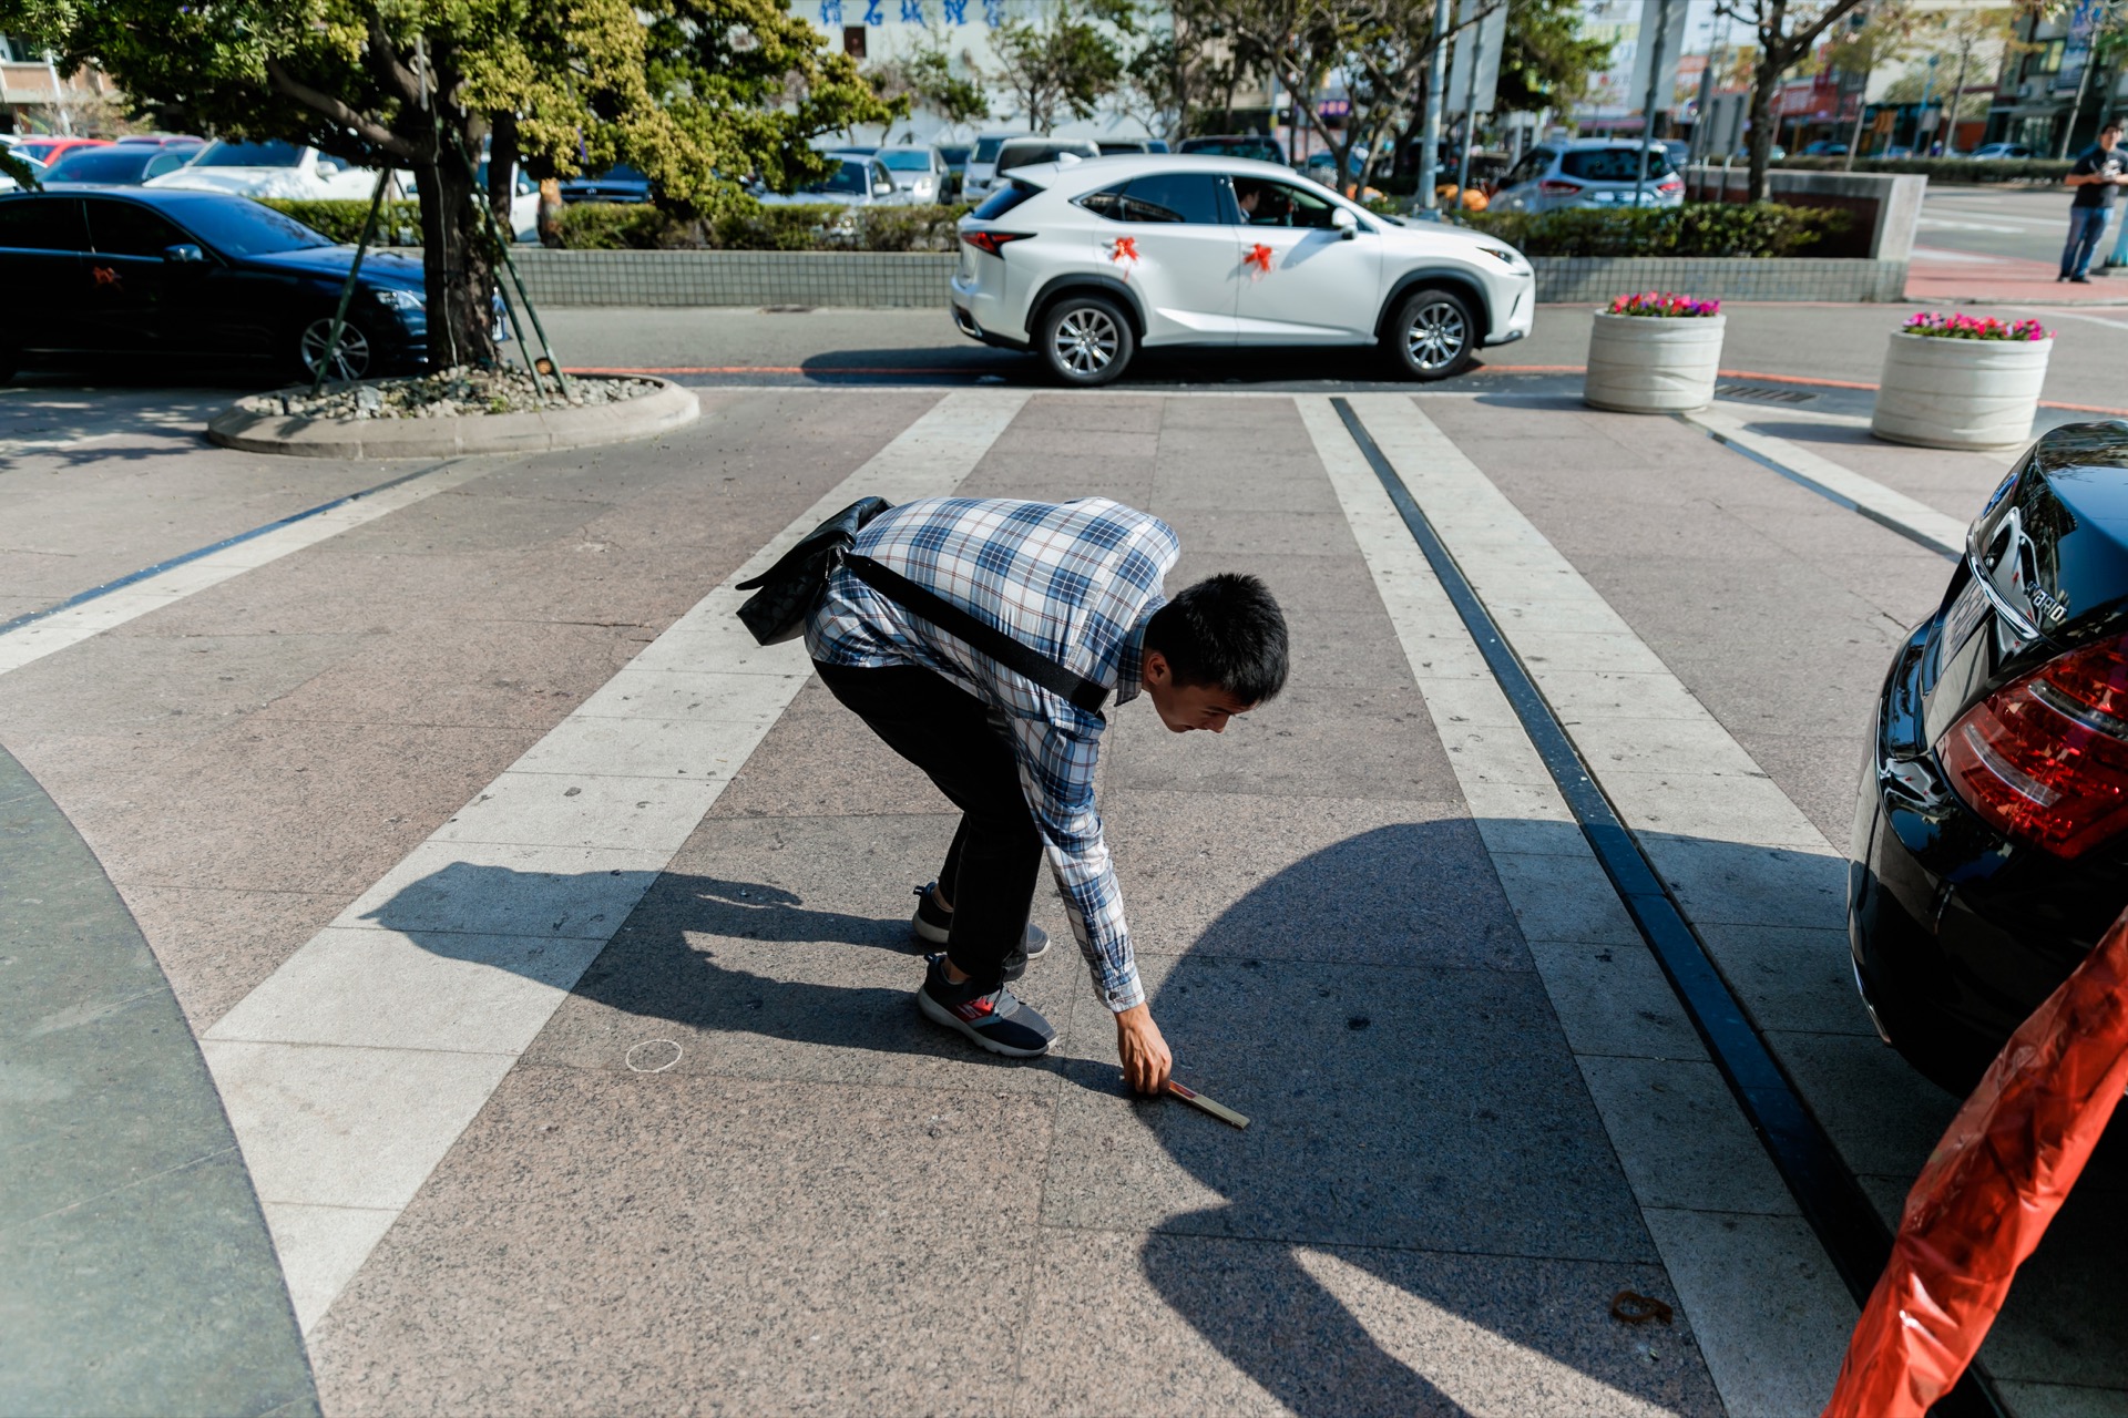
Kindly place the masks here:
[(1492, 232), (1524, 255), (1805, 255), (1851, 221), (1845, 210), (1783, 202), (1462, 215), (1464, 225)]

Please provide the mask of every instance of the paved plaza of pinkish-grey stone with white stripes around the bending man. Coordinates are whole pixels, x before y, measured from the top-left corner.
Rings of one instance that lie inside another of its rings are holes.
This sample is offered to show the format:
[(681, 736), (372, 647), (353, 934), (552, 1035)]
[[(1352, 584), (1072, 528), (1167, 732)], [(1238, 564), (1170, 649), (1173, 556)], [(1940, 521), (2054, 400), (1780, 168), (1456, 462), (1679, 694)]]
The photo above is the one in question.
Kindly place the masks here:
[[(653, 351), (724, 370), (698, 423), (428, 463), (209, 449), (226, 391), (0, 391), (0, 621), (149, 572), (0, 634), (0, 1392), (1815, 1414), (1856, 1301), (1353, 425), (1885, 1218), (1956, 1099), (1849, 978), (1862, 729), (1930, 538), (2009, 459), (1873, 442), (1836, 383), (1594, 412), (1566, 357), (1424, 391), (730, 372), (845, 344)], [(1115, 497), (1179, 534), (1170, 589), (1285, 606), (1281, 697), (1224, 736), (1130, 704), (1102, 753), (1177, 1078), (1247, 1131), (1124, 1091), (1047, 882), (1051, 1059), (913, 1008), (955, 816), (732, 619), (870, 493)], [(2109, 1144), (1983, 1350), (2011, 1412), (2128, 1412), (2124, 1199)]]

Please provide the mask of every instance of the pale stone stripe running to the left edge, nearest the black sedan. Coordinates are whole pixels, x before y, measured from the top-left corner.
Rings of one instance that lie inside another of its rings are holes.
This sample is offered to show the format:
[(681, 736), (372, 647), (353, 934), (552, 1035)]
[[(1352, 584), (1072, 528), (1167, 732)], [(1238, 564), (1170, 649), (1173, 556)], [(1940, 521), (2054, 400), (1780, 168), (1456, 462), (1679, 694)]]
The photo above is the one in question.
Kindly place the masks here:
[(119, 587), (106, 595), (98, 595), (92, 602), (83, 602), (68, 610), (49, 614), (43, 621), (32, 621), (11, 629), (0, 636), (0, 674), (21, 670), (23, 665), (64, 651), (70, 644), (81, 644), (89, 636), (100, 636), (106, 629), (136, 621), (151, 610), (174, 606), (187, 595), (209, 587), (219, 587), (223, 580), (243, 576), (245, 572), (262, 568), (268, 561), (279, 561), (281, 557), (302, 551), (304, 546), (317, 546), (328, 538), (340, 536), (349, 527), (377, 521), (379, 517), (409, 508), (415, 502), (434, 497), (436, 493), (447, 493), (453, 487), (464, 487), (472, 478), (485, 476), (496, 468), (500, 468), (496, 461), (443, 463), (434, 472), (426, 472), (396, 487), (364, 493), (353, 502), (343, 502), (340, 506), (319, 512), (317, 517), (304, 517), (302, 521), (285, 527), (275, 527), (272, 531), (236, 542), (234, 546), (223, 546), (221, 551), (200, 557), (198, 561), (185, 561), (183, 565), (172, 565), (166, 572), (143, 576), (136, 583)]

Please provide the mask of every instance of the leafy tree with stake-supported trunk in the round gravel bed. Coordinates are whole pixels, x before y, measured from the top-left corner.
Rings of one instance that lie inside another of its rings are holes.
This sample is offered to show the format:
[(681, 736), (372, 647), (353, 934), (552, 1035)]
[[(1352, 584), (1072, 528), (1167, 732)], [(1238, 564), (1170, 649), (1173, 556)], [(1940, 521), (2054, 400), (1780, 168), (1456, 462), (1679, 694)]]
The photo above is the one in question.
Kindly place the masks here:
[(468, 164), (489, 138), (489, 200), (519, 157), (536, 176), (630, 162), (702, 210), (749, 170), (819, 174), (807, 138), (887, 113), (772, 0), (0, 0), (0, 32), (217, 134), (411, 168), (438, 368), (496, 357), (498, 253)]

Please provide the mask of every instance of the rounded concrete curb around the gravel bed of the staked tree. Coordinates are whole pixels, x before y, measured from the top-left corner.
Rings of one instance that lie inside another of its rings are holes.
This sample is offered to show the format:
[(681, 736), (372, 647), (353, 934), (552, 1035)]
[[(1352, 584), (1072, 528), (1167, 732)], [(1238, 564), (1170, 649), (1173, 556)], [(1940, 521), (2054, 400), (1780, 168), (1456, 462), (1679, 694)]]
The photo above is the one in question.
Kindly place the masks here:
[(702, 404), (692, 389), (666, 378), (660, 378), (658, 385), (653, 393), (626, 404), (458, 419), (298, 419), (228, 408), (206, 425), (206, 438), (223, 449), (289, 457), (547, 453), (649, 438), (694, 423), (702, 415)]

